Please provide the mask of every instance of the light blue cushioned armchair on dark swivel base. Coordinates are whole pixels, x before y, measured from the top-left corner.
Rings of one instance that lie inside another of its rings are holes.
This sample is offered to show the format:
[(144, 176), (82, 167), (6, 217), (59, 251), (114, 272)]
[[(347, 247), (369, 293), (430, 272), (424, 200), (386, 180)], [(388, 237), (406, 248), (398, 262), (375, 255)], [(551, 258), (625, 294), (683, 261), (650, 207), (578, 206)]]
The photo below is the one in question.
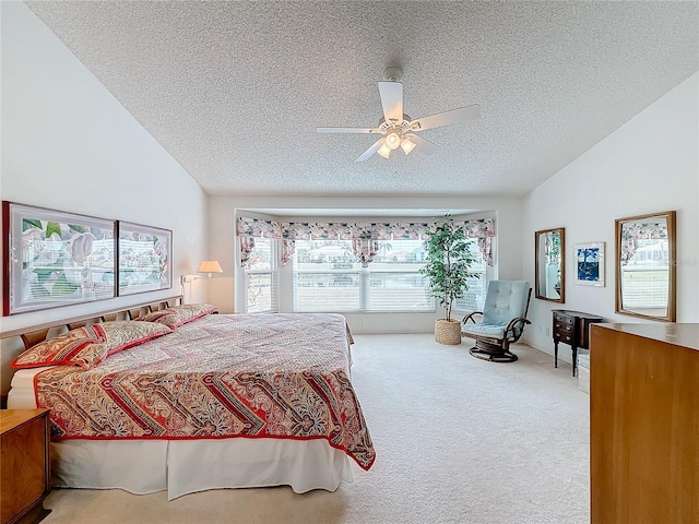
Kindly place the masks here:
[[(493, 362), (513, 362), (517, 355), (510, 352), (526, 320), (532, 288), (526, 281), (490, 281), (483, 311), (466, 314), (462, 322), (461, 336), (473, 338), (476, 345), (469, 353), (476, 358)], [(476, 318), (481, 317), (479, 321)]]

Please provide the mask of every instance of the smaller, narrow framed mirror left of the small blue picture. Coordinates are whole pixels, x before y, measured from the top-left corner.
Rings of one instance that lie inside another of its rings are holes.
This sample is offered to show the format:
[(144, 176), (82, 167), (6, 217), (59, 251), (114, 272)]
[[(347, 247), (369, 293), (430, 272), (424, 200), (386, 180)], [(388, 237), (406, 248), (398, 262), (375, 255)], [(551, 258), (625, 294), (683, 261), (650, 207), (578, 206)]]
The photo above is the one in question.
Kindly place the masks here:
[(552, 302), (566, 301), (566, 228), (534, 233), (535, 296)]

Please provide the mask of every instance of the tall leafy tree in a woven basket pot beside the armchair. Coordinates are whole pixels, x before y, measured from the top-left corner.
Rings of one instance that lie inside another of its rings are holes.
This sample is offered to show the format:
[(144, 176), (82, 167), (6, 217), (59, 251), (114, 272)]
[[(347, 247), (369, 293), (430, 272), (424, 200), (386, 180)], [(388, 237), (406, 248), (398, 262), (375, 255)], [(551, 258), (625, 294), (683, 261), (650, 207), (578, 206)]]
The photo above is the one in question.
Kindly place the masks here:
[(446, 317), (435, 321), (435, 341), (439, 344), (461, 344), (461, 321), (451, 318), (454, 300), (469, 289), (473, 255), (471, 240), (462, 226), (454, 224), (451, 215), (435, 225), (423, 242), (426, 264), (419, 272), (429, 279), (431, 295), (445, 308)]

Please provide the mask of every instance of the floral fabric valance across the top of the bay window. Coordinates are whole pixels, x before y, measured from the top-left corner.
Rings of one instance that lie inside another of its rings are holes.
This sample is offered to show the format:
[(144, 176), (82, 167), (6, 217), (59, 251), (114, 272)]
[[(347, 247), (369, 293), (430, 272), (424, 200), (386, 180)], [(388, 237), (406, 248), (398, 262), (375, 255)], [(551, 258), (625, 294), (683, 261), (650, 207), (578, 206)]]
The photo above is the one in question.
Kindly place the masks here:
[[(457, 223), (459, 224), (459, 222)], [(493, 266), (493, 238), (495, 219), (483, 218), (461, 223), (469, 238), (477, 240), (484, 260)], [(253, 238), (277, 238), (282, 240), (282, 264), (294, 254), (294, 240), (352, 240), (353, 251), (363, 265), (374, 260), (377, 240), (418, 240), (435, 227), (435, 223), (315, 223), (276, 222), (238, 217), (236, 235), (240, 237), (240, 262), (247, 264)]]

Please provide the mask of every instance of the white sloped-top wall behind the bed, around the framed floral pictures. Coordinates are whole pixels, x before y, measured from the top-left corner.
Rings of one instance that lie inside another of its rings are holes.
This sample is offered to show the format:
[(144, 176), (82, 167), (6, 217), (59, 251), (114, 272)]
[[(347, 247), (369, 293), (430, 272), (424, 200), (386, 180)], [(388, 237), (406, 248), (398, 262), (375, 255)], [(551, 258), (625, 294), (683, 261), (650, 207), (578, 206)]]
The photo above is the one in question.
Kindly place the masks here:
[(167, 291), (3, 317), (1, 330), (179, 294), (179, 275), (206, 258), (205, 193), (26, 5), (1, 9), (0, 196), (171, 229), (175, 281)]

